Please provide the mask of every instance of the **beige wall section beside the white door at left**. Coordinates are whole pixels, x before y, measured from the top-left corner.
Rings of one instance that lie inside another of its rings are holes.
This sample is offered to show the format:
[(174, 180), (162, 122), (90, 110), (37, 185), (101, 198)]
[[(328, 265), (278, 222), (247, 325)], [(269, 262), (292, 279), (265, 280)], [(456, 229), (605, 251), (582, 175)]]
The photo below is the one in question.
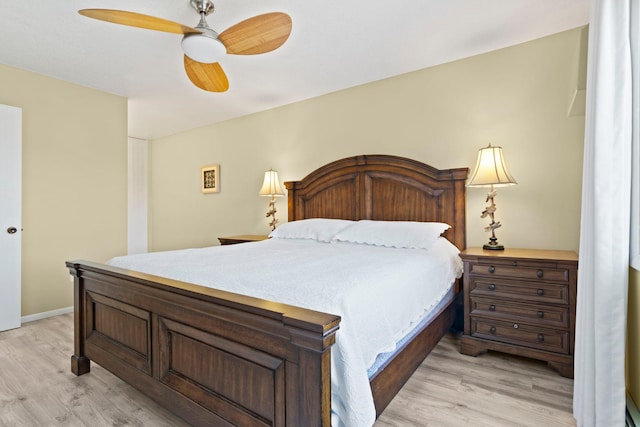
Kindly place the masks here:
[(73, 305), (64, 262), (126, 252), (127, 100), (0, 65), (22, 108), (22, 316)]

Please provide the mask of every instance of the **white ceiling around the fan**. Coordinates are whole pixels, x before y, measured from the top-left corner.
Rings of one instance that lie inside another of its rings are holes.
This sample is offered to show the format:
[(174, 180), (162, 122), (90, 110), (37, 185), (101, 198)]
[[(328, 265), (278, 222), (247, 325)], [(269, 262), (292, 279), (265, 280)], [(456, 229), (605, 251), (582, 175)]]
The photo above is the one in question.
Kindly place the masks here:
[(222, 32), (288, 13), (289, 40), (220, 64), (229, 91), (185, 75), (181, 36), (83, 17), (79, 9), (144, 13), (188, 26), (188, 0), (0, 0), (0, 63), (129, 99), (129, 135), (153, 139), (522, 43), (585, 25), (589, 0), (218, 0)]

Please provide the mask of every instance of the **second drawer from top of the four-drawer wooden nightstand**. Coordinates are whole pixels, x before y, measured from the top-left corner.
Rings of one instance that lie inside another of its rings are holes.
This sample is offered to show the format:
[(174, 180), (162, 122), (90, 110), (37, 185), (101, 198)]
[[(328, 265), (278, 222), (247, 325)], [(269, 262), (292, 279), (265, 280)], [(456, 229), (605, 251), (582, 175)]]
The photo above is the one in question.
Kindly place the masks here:
[(514, 299), (534, 303), (568, 304), (567, 285), (544, 282), (518, 282), (474, 278), (470, 280), (472, 297)]

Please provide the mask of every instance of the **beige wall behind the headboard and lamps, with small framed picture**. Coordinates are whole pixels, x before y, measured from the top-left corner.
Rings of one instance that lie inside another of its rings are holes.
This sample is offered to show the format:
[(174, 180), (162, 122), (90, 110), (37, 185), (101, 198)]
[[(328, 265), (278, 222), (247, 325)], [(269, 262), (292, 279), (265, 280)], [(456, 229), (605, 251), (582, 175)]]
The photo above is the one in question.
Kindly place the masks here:
[[(264, 171), (296, 180), (356, 154), (394, 154), (438, 168), (475, 165), (501, 145), (517, 186), (500, 189), (506, 246), (577, 250), (584, 116), (568, 116), (581, 30), (419, 70), (150, 144), (152, 250), (268, 233)], [(215, 96), (215, 95), (211, 95)], [(221, 192), (201, 194), (200, 167), (221, 165)], [(486, 190), (467, 191), (469, 246), (488, 240)], [(286, 220), (286, 201), (278, 215)]]

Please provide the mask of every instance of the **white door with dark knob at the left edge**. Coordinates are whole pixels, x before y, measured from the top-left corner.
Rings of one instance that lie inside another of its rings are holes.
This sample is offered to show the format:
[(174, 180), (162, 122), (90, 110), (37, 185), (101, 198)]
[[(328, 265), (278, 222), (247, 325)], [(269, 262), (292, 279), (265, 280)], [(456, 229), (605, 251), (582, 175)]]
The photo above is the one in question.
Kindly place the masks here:
[(20, 326), (22, 109), (0, 105), (0, 331)]

